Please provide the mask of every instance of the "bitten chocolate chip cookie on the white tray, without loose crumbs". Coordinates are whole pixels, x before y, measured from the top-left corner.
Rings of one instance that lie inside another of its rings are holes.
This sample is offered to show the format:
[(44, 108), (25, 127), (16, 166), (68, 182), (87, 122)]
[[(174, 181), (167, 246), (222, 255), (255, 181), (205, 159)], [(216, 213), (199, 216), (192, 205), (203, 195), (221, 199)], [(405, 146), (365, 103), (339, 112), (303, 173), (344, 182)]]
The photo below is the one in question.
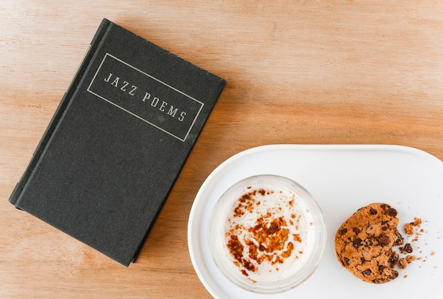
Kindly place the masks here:
[(389, 259), (392, 247), (403, 244), (397, 230), (397, 210), (386, 203), (360, 208), (335, 234), (335, 253), (343, 267), (369, 283), (386, 283), (398, 277)]

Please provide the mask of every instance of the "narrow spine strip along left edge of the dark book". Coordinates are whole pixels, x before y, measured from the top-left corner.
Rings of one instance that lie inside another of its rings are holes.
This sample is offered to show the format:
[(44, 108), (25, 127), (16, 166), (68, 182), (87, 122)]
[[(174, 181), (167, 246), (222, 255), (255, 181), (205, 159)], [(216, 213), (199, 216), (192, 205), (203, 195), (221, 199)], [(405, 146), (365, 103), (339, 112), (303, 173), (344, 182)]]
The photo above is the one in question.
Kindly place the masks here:
[(32, 176), (33, 171), (34, 171), (36, 165), (38, 164), (38, 161), (40, 160), (40, 157), (42, 157), (42, 153), (45, 152), (45, 148), (47, 147), (47, 144), (50, 141), (52, 134), (56, 130), (59, 121), (62, 119), (64, 111), (67, 108), (69, 102), (71, 101), (72, 95), (76, 91), (76, 88), (79, 85), (79, 82), (81, 81), (82, 77), (84, 76), (86, 69), (88, 68), (88, 65), (90, 64), (90, 62), (93, 58), (94, 53), (96, 52), (101, 41), (103, 40), (103, 38), (107, 34), (108, 28), (110, 27), (111, 24), (112, 23), (105, 18), (100, 23), (100, 26), (96, 32), (96, 35), (94, 35), (93, 39), (91, 40), (88, 50), (86, 51), (84, 59), (81, 62), (80, 67), (74, 76), (74, 79), (71, 81), (69, 88), (64, 93), (62, 101), (60, 101), (59, 106), (57, 107), (57, 110), (55, 111), (54, 115), (52, 116), (52, 119), (51, 119), (49, 125), (47, 126), (45, 133), (42, 136), (42, 139), (38, 143), (38, 146), (35, 149), (35, 152), (33, 154), (33, 157), (30, 159), (28, 167), (26, 167), (25, 172), (23, 173), (23, 176), (21, 177), (20, 181), (18, 181), (18, 184), (16, 184), (16, 187), (13, 189), (11, 196), (9, 197), (9, 202), (12, 203), (13, 205), (16, 205), (16, 207), (20, 201), (20, 197), (21, 197), (21, 193), (23, 192), (23, 189), (25, 188), (30, 177)]

